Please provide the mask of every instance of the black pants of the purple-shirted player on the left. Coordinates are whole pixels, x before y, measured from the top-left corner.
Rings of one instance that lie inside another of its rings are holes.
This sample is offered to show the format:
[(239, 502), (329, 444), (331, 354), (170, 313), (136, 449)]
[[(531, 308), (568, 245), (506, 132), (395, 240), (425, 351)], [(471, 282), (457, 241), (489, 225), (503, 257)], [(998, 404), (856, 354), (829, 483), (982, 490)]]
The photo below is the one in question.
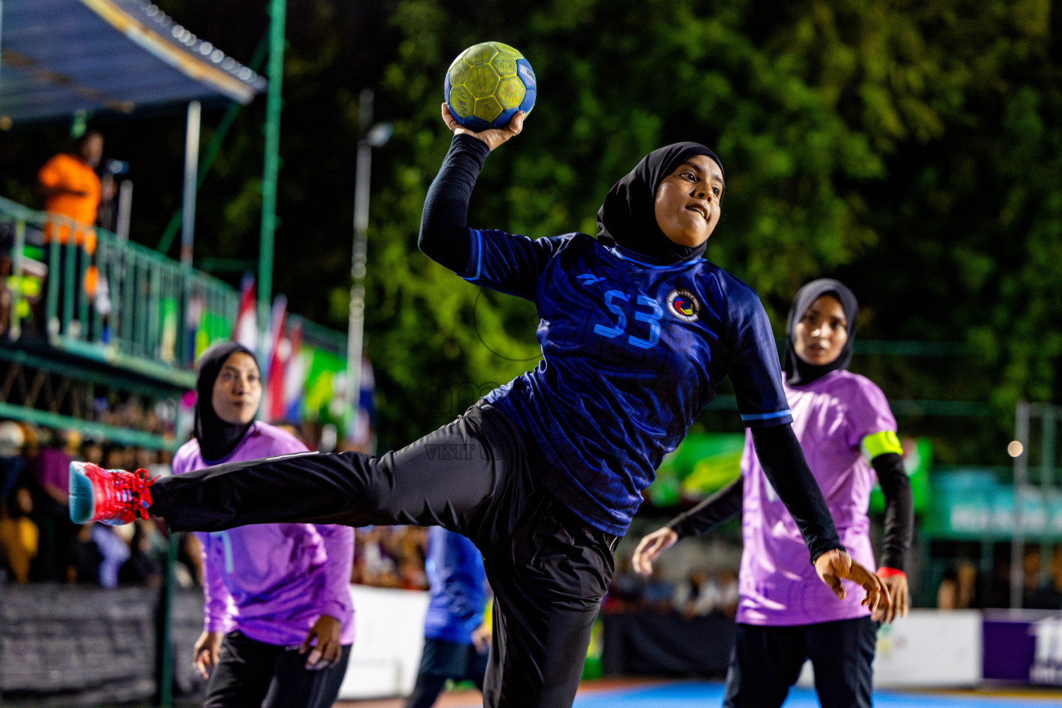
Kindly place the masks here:
[(203, 708), (329, 708), (349, 660), (347, 644), (331, 667), (308, 671), (305, 654), (249, 639), (237, 629), (221, 642)]

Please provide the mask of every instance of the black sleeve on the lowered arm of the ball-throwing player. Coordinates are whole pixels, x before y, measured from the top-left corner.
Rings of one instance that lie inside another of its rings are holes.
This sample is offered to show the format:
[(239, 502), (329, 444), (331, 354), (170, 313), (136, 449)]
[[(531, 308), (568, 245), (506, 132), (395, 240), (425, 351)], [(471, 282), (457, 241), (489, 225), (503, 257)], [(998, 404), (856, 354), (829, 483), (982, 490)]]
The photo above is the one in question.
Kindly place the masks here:
[(826, 551), (844, 550), (826, 500), (804, 460), (804, 451), (792, 427), (753, 428), (752, 444), (767, 481), (774, 487), (804, 536), (804, 542), (811, 552), (811, 563)]

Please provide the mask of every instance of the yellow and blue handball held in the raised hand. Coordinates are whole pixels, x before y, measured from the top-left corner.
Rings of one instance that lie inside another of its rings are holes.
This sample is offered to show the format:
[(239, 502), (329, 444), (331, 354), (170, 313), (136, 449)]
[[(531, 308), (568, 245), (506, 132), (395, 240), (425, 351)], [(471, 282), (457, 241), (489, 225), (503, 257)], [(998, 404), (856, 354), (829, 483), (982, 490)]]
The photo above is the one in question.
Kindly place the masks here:
[(473, 45), (446, 70), (444, 98), (450, 115), (465, 127), (500, 127), (518, 110), (531, 113), (535, 79), (531, 64), (500, 41)]

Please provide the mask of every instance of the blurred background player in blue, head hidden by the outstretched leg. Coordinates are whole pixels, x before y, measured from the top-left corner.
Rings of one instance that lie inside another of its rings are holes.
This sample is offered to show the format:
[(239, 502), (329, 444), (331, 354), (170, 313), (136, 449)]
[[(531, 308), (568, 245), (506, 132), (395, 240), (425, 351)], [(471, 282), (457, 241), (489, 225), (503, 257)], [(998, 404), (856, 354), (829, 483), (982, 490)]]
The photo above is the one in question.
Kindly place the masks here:
[(470, 680), (483, 690), (491, 627), (483, 558), (472, 541), (432, 526), (425, 562), (430, 589), (424, 620), (424, 652), (406, 708), (431, 708), (447, 679)]

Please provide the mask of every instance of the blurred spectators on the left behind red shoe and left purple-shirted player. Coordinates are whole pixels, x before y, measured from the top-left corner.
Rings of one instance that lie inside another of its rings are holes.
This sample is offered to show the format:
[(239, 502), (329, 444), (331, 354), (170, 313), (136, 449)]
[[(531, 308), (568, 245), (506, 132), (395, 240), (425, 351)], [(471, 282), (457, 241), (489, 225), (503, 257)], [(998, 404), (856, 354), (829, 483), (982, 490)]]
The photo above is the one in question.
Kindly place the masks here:
[[(108, 413), (114, 416), (110, 425), (130, 427), (135, 410)], [(172, 454), (166, 450), (110, 445), (76, 431), (0, 421), (0, 577), (15, 583), (159, 586), (169, 547), (165, 528), (154, 519), (122, 526), (72, 523), (71, 461), (105, 468), (142, 467), (152, 477), (172, 473)], [(356, 534), (353, 583), (427, 589), (426, 529), (366, 526)], [(201, 549), (192, 534), (181, 534), (174, 573), (183, 587), (202, 585)]]

